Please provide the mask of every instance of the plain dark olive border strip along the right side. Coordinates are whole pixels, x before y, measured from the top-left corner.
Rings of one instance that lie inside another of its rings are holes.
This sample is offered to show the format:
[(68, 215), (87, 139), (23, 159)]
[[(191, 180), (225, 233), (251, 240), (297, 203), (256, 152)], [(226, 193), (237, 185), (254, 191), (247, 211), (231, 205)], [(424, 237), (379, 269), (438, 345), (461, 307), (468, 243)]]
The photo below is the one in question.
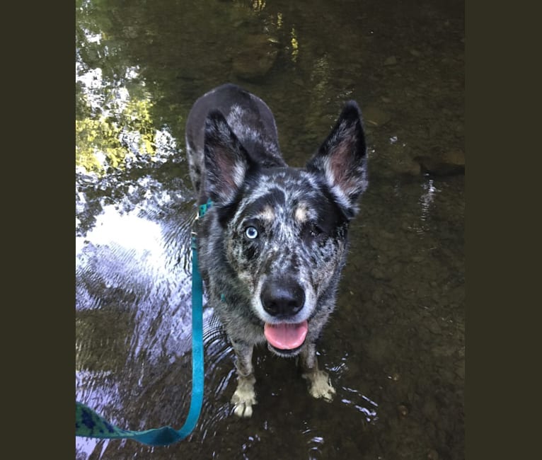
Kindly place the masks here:
[(540, 86), (540, 73), (525, 68), (534, 67), (539, 54), (534, 22), (534, 11), (521, 4), (466, 2), (468, 460), (534, 458), (539, 452), (534, 374), (540, 354), (528, 356), (536, 347), (526, 341), (539, 336), (540, 323), (531, 322), (529, 330), (521, 309), (538, 310), (540, 304), (538, 293), (526, 294), (527, 284), (538, 287), (540, 274), (539, 266), (526, 265), (534, 257), (526, 241), (534, 227), (526, 222), (540, 208), (540, 179), (530, 175), (540, 171), (533, 161), (542, 154), (524, 141), (540, 130), (540, 109), (528, 87)]

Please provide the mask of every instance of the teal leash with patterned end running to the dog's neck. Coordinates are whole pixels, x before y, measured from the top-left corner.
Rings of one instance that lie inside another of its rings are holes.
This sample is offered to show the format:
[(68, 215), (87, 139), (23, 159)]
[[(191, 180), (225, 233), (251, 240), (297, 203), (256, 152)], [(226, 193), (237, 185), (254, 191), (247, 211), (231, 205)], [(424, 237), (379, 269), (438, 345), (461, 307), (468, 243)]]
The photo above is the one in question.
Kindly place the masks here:
[[(212, 206), (209, 200), (201, 205), (197, 218)], [(166, 446), (185, 439), (194, 430), (203, 403), (203, 282), (198, 268), (197, 236), (192, 232), (192, 399), (185, 424), (180, 430), (172, 427), (144, 431), (122, 430), (98, 415), (83, 403), (75, 403), (75, 435), (102, 439), (134, 439), (149, 446)]]

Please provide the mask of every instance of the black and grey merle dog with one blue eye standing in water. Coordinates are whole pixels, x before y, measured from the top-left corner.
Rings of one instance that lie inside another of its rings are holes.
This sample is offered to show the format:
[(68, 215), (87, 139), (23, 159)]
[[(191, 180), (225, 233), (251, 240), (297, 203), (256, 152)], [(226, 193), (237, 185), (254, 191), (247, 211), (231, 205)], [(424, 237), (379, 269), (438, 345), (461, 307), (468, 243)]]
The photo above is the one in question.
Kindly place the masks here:
[(196, 100), (185, 141), (198, 205), (209, 204), (197, 224), (199, 268), (236, 357), (233, 413), (253, 413), (253, 348), (263, 343), (299, 357), (311, 396), (332, 401), (316, 342), (335, 308), (348, 224), (368, 185), (357, 103), (345, 103), (304, 168), (282, 159), (267, 104), (233, 84)]

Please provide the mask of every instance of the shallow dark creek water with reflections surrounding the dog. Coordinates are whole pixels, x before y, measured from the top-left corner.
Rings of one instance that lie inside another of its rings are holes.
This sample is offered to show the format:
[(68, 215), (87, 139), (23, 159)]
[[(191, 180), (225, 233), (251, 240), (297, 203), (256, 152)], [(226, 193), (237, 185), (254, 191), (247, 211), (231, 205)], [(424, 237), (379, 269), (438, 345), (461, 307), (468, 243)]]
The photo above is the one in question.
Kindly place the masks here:
[(369, 188), (352, 222), (314, 400), (256, 350), (258, 405), (231, 415), (233, 353), (204, 313), (204, 407), (170, 447), (76, 438), (76, 459), (463, 459), (464, 176), (459, 1), (76, 1), (76, 398), (132, 430), (190, 404), (194, 214), (184, 124), (233, 81), (263, 98), (302, 166), (342, 103), (362, 108)]

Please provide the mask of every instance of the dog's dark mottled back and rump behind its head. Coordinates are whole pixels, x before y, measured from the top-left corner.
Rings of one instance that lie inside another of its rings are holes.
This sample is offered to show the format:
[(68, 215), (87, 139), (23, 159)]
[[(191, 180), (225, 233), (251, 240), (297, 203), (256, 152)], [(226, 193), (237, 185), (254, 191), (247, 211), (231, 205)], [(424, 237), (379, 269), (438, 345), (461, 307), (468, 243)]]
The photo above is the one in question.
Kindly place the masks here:
[[(279, 149), (275, 117), (267, 104), (233, 84), (224, 84), (196, 100), (186, 122), (186, 148), (190, 178), (202, 193), (204, 135), (207, 115), (218, 110), (252, 159), (263, 166), (286, 166)], [(201, 197), (206, 201), (207, 197)]]

